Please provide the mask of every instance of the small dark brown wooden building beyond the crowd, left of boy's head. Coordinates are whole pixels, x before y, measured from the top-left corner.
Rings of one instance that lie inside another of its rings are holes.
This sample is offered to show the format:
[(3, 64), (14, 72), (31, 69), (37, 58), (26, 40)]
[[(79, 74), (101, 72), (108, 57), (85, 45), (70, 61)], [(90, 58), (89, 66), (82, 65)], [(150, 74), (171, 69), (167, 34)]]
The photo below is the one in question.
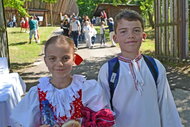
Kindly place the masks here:
[(101, 11), (105, 10), (107, 17), (114, 18), (123, 9), (131, 9), (131, 10), (135, 10), (139, 13), (141, 12), (140, 6), (138, 6), (138, 5), (121, 4), (121, 5), (114, 6), (113, 4), (102, 3), (96, 7), (96, 9), (94, 11), (94, 16), (100, 16)]

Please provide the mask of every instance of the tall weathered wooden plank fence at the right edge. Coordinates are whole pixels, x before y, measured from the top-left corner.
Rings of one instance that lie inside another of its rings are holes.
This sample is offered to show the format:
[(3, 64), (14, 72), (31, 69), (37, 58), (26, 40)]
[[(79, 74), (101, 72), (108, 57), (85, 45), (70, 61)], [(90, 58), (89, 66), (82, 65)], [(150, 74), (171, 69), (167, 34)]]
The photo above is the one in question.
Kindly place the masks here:
[(155, 0), (155, 51), (162, 60), (188, 58), (188, 0)]

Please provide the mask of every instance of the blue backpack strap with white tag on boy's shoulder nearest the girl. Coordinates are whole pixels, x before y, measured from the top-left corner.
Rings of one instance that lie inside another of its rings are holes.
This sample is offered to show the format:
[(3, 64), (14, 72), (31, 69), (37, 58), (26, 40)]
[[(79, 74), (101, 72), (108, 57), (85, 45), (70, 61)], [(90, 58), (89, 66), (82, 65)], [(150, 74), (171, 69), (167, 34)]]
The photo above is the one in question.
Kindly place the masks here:
[(110, 87), (110, 104), (111, 108), (113, 109), (112, 99), (114, 90), (117, 86), (117, 82), (119, 79), (119, 60), (117, 57), (108, 61), (108, 82)]

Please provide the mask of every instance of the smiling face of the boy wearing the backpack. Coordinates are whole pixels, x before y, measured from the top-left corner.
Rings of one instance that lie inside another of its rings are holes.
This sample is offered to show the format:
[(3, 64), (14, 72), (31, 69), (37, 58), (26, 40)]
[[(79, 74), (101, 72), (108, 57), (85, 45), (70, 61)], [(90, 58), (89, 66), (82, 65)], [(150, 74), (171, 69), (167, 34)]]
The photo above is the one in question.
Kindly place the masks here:
[(123, 55), (138, 55), (141, 42), (146, 38), (140, 21), (121, 19), (116, 28), (114, 41), (118, 42)]

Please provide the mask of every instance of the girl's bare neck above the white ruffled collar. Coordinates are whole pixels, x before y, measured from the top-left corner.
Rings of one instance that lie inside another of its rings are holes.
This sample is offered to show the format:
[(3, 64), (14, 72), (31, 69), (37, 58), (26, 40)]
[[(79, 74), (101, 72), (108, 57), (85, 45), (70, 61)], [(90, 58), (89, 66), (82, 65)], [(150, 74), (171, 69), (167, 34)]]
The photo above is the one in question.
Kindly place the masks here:
[(69, 76), (67, 78), (52, 78), (50, 82), (53, 84), (54, 87), (57, 89), (63, 89), (68, 87), (72, 82), (72, 77)]

